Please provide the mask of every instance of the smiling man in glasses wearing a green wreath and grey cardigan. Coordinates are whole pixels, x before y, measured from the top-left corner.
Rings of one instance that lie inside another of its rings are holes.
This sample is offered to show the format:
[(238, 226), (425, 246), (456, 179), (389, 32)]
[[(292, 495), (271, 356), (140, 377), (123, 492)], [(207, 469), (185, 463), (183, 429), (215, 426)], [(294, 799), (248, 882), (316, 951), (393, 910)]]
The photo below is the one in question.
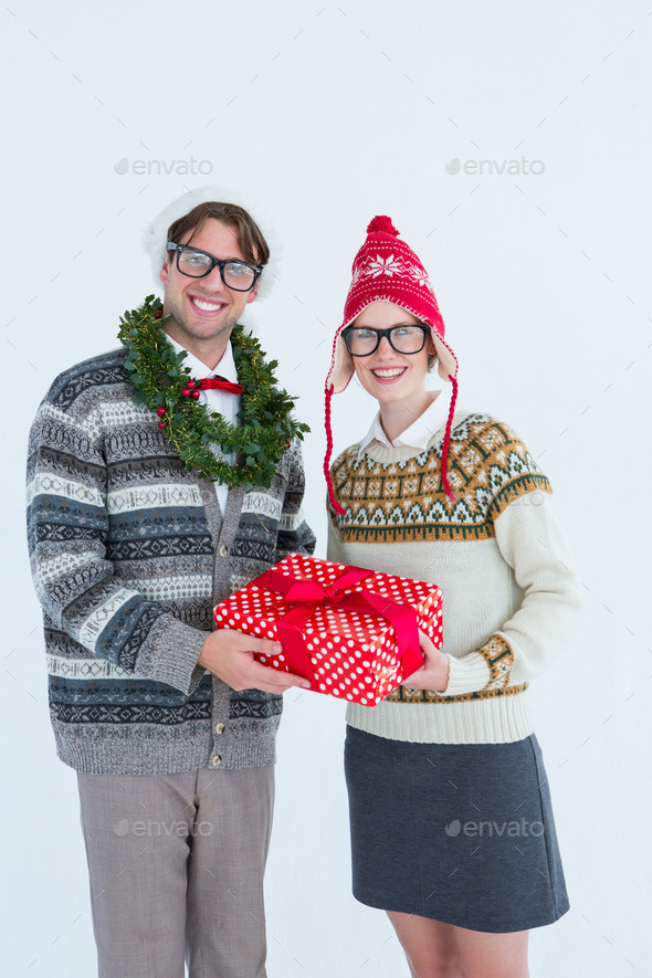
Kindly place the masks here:
[(292, 401), (235, 327), (265, 239), (234, 204), (188, 194), (170, 213), (162, 309), (126, 315), (126, 348), (65, 371), (39, 409), (29, 544), (101, 978), (182, 978), (185, 957), (191, 978), (254, 978), (281, 694), (309, 683), (254, 661), (275, 643), (214, 631), (212, 608), (315, 537)]

